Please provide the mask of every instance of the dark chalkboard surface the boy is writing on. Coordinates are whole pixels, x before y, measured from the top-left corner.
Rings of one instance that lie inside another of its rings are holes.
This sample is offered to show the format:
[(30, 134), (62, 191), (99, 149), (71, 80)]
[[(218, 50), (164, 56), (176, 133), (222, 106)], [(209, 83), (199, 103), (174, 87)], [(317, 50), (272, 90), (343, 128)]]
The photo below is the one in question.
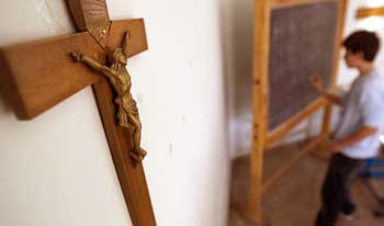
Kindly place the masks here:
[(318, 98), (307, 78), (330, 82), (338, 1), (273, 9), (269, 58), (269, 129)]

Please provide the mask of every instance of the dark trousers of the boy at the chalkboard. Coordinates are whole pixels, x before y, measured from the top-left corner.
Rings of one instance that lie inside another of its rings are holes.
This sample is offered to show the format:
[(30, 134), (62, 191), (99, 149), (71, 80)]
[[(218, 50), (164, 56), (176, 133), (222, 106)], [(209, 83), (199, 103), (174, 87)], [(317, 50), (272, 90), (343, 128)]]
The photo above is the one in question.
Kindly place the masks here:
[(363, 160), (351, 159), (342, 154), (331, 157), (321, 190), (321, 210), (316, 226), (334, 226), (339, 213), (351, 214), (355, 210), (351, 201), (351, 184), (358, 176)]

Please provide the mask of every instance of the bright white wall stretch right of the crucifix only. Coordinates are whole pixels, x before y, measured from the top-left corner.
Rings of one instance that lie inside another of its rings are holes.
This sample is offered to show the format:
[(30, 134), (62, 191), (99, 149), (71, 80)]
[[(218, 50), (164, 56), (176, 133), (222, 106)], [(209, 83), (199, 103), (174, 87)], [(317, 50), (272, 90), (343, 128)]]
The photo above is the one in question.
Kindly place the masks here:
[[(109, 1), (117, 7), (126, 0)], [(135, 0), (149, 52), (131, 74), (159, 225), (225, 225), (229, 158), (219, 0)], [(121, 12), (120, 12), (121, 11)], [(137, 76), (135, 76), (137, 75)]]

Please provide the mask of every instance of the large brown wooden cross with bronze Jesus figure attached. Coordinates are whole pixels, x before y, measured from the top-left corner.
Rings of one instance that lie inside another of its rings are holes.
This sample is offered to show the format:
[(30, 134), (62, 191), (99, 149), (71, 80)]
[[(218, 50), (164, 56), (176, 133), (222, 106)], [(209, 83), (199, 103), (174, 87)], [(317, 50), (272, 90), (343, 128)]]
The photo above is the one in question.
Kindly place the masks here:
[[(128, 56), (147, 49), (144, 20), (110, 21), (105, 0), (67, 2), (80, 33), (1, 48), (1, 91), (18, 118), (31, 120), (92, 86), (131, 219), (135, 226), (154, 226), (140, 162), (140, 122), (125, 69)], [(116, 49), (118, 57), (113, 55)], [(105, 70), (116, 77), (108, 77)], [(122, 87), (116, 87), (120, 81)]]

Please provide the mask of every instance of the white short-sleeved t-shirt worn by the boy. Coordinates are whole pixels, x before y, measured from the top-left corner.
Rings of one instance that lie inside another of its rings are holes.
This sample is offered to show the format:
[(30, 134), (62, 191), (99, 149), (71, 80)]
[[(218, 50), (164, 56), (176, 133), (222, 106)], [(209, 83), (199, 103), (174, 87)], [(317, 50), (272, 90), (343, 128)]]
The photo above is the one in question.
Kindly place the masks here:
[(377, 133), (365, 137), (341, 152), (353, 159), (368, 159), (377, 155), (380, 135), (384, 128), (384, 77), (377, 69), (359, 76), (341, 100), (341, 115), (336, 139), (343, 139), (363, 126), (376, 127)]

